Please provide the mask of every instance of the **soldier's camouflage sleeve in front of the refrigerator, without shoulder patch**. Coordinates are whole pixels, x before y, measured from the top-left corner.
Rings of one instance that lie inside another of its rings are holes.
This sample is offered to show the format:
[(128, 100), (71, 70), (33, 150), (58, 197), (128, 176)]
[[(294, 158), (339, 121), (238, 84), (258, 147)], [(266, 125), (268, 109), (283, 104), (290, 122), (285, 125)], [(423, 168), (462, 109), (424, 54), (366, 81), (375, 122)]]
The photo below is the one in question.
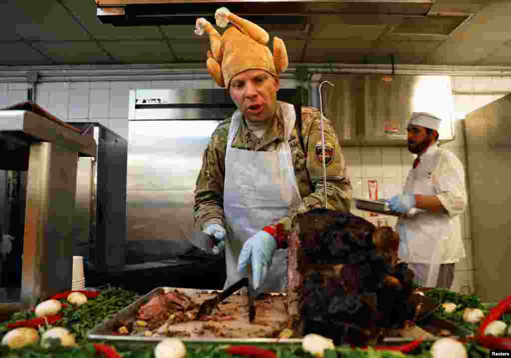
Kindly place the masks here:
[(203, 230), (206, 222), (224, 226), (225, 149), (229, 126), (230, 119), (220, 123), (202, 156), (202, 167), (194, 192), (195, 230)]

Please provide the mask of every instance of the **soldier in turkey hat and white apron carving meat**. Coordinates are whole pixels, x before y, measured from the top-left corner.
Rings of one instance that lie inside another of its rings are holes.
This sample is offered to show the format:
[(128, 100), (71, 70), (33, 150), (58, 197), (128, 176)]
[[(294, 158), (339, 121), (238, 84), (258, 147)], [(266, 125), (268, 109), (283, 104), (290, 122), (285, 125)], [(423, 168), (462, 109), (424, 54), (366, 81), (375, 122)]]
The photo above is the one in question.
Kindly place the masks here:
[[(228, 286), (249, 275), (256, 289), (285, 292), (287, 250), (283, 239), (293, 218), (323, 208), (320, 112), (276, 100), (279, 75), (287, 69), (284, 41), (221, 8), (217, 25), (204, 18), (211, 51), (207, 71), (226, 87), (238, 110), (215, 129), (202, 160), (195, 190), (196, 227), (225, 243)], [(300, 121), (301, 120), (301, 121)], [(298, 123), (301, 122), (301, 127)], [(324, 120), (327, 205), (349, 211), (351, 184), (335, 131)], [(248, 264), (251, 272), (247, 272)]]

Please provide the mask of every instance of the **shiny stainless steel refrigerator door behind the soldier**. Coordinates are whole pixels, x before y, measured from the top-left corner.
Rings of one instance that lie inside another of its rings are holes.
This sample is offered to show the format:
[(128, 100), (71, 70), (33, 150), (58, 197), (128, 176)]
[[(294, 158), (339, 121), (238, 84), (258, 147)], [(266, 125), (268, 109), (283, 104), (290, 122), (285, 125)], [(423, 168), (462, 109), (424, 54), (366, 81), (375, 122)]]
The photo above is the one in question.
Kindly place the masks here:
[(127, 264), (189, 251), (194, 190), (214, 120), (130, 121)]

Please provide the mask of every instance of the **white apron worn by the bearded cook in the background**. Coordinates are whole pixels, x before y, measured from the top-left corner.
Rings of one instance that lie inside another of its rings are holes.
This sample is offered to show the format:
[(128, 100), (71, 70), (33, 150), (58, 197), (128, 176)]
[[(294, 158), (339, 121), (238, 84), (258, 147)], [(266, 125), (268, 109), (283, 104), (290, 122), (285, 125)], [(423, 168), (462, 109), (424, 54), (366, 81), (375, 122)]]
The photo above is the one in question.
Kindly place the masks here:
[[(431, 149), (433, 148), (428, 151)], [(422, 195), (438, 194), (432, 178), (433, 170), (440, 158), (440, 151), (437, 147), (435, 149), (432, 153), (424, 153), (419, 166), (410, 170), (403, 192)], [(397, 229), (401, 239), (400, 258), (409, 263), (429, 264), (424, 285), (435, 287), (440, 263), (451, 236), (449, 216), (412, 208), (398, 219)]]

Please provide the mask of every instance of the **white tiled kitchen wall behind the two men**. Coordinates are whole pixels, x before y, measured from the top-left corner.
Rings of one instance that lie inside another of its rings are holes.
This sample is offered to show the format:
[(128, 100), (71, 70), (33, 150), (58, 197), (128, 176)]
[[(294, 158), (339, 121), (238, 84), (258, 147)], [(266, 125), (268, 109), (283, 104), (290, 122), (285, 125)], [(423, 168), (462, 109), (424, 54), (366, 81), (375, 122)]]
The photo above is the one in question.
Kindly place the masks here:
[[(282, 88), (292, 88), (293, 80), (282, 80)], [(64, 121), (100, 122), (128, 139), (128, 94), (136, 88), (215, 88), (213, 80), (197, 81), (118, 81), (118, 82), (62, 82), (42, 83), (37, 87), (37, 103)], [(27, 99), (26, 83), (0, 83), (0, 108)], [(506, 77), (455, 77), (454, 91), (509, 91), (511, 78)], [(495, 100), (489, 96), (455, 96), (455, 112), (466, 113), (478, 106)], [(457, 116), (462, 118), (463, 116)], [(456, 140), (446, 144), (458, 158), (466, 163), (463, 142), (463, 120), (456, 121)], [(352, 178), (354, 196), (367, 197), (368, 180), (377, 180), (379, 197), (397, 194), (403, 187), (406, 175), (413, 163), (414, 155), (407, 148), (398, 147), (346, 147), (344, 148), (349, 175)], [(470, 203), (470, 198), (469, 198)], [(354, 207), (354, 206), (353, 206)], [(472, 293), (474, 266), (472, 240), (470, 237), (469, 211), (462, 215), (460, 234), (465, 243), (467, 258), (456, 264), (456, 275), (452, 289)], [(367, 213), (354, 210), (360, 216)], [(395, 225), (396, 218), (383, 218)]]

